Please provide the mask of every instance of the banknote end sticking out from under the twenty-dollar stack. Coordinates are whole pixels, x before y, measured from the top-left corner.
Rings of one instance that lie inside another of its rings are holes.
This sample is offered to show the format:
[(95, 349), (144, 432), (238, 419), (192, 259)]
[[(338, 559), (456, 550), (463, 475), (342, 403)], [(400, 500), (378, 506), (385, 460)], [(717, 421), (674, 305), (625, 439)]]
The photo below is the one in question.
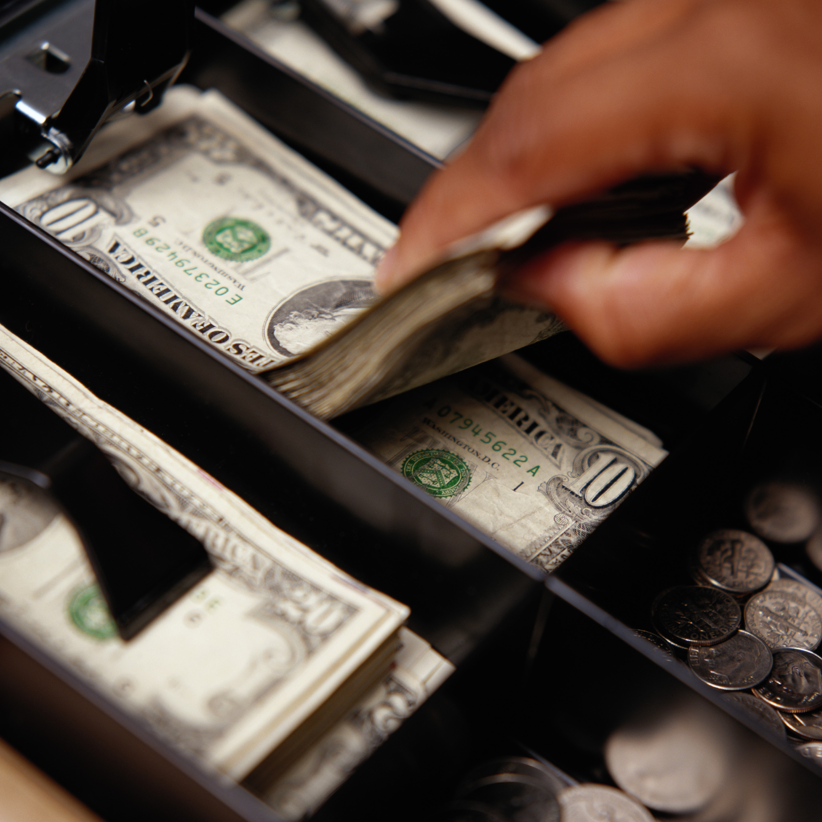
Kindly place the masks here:
[(454, 666), (407, 628), (390, 674), (260, 797), (286, 822), (307, 819), (450, 677)]

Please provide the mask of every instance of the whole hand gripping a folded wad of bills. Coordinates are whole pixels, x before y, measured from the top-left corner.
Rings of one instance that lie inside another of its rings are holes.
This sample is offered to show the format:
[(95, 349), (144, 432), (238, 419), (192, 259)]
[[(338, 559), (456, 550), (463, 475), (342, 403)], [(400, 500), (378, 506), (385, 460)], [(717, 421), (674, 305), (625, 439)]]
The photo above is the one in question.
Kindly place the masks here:
[(746, 222), (711, 250), (568, 243), (506, 283), (609, 363), (640, 366), (822, 336), (822, 3), (622, 0), (511, 73), (432, 176), (377, 275), (390, 291), (515, 211), (637, 174), (737, 170)]

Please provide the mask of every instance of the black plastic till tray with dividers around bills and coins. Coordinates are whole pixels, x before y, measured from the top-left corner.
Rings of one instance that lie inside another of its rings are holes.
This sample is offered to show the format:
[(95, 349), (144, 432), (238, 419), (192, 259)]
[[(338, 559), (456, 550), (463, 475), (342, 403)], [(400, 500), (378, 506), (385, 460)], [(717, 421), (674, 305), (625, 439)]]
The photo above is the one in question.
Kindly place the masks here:
[[(59, 6), (44, 5), (50, 12)], [(14, 12), (13, 6), (0, 12)], [(111, 4), (144, 25), (147, 15), (138, 6), (146, 4)], [(95, 18), (95, 26), (105, 22), (103, 14)], [(43, 47), (36, 32), (32, 37), (35, 62), (52, 61), (58, 69), (66, 62), (64, 49)], [(109, 92), (111, 108), (159, 99), (187, 47), (184, 39), (163, 46), (164, 68), (155, 66), (151, 76), (123, 75)], [(178, 81), (218, 89), (389, 219), (399, 218), (438, 164), (201, 10), (192, 17), (190, 47)], [(2, 121), (15, 147), (7, 170), (26, 155), (44, 166), (73, 162), (87, 141), (79, 127), (72, 122), (63, 130), (55, 119), (43, 131), (47, 118), (37, 123), (17, 105), (33, 93), (15, 91), (7, 100), (14, 111)], [(81, 108), (90, 139), (108, 109)], [(359, 446), (349, 436), (357, 420), (312, 418), (5, 205), (0, 250), (2, 326), (280, 529), (408, 604), (409, 627), (457, 666), (317, 819), (432, 818), (470, 768), (499, 755), (550, 760), (582, 781), (607, 781), (603, 740), (629, 709), (650, 700), (668, 715), (698, 704), (711, 721), (730, 723), (748, 771), (727, 772), (728, 793), (743, 793), (750, 773), (778, 774), (768, 783), (771, 815), (764, 818), (815, 819), (822, 796), (817, 766), (635, 633), (647, 629), (658, 591), (687, 580), (694, 539), (706, 529), (737, 527), (740, 496), (755, 481), (799, 470), (791, 457), (798, 453), (795, 439), (778, 433), (779, 421), (801, 418), (810, 431), (820, 411), (797, 393), (796, 376), (784, 363), (728, 357), (622, 374), (568, 334), (522, 352), (529, 363), (657, 432), (672, 453), (546, 577)], [(803, 367), (807, 373), (810, 367)], [(27, 443), (42, 452), (69, 436), (48, 409), (0, 377), (13, 461), (25, 460)], [(769, 463), (774, 455), (767, 446), (774, 442), (787, 456)], [(818, 449), (811, 441), (806, 453)], [(796, 553), (777, 552), (777, 559), (811, 583), (822, 581)], [(0, 733), (104, 819), (278, 818), (245, 787), (196, 768), (153, 737), (13, 626), (0, 623), (0, 633)]]

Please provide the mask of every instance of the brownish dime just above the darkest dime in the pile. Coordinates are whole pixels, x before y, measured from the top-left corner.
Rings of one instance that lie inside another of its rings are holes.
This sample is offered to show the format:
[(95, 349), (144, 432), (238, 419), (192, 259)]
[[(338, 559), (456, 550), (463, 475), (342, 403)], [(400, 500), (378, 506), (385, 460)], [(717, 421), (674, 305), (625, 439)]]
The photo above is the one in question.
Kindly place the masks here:
[(696, 547), (694, 566), (709, 584), (745, 595), (768, 584), (774, 573), (774, 556), (752, 533), (723, 529), (709, 533)]

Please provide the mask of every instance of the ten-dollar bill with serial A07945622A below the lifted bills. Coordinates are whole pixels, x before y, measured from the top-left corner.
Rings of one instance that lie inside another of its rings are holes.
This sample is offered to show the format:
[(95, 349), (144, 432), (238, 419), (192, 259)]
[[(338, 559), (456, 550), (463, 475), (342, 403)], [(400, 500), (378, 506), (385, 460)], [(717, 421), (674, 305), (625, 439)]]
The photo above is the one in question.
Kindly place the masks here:
[(513, 354), (396, 398), (354, 436), (547, 571), (667, 455), (652, 432)]

